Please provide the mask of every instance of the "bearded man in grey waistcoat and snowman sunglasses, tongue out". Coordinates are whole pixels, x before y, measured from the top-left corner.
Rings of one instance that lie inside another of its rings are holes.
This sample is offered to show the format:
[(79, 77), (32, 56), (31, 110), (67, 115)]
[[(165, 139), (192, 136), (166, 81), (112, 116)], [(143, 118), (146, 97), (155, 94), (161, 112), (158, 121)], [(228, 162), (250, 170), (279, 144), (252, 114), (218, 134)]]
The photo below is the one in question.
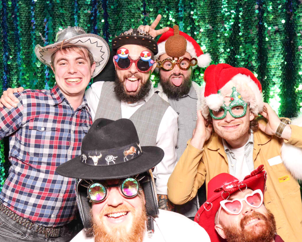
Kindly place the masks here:
[[(165, 156), (153, 171), (160, 208), (173, 209), (167, 198), (167, 182), (177, 162), (177, 114), (168, 102), (154, 93), (150, 75), (158, 52), (154, 38), (167, 29), (155, 30), (159, 15), (149, 27), (124, 31), (112, 40), (115, 82), (95, 82), (86, 91), (92, 118), (129, 118), (142, 145), (156, 145)], [(153, 36), (151, 35), (153, 34)]]

